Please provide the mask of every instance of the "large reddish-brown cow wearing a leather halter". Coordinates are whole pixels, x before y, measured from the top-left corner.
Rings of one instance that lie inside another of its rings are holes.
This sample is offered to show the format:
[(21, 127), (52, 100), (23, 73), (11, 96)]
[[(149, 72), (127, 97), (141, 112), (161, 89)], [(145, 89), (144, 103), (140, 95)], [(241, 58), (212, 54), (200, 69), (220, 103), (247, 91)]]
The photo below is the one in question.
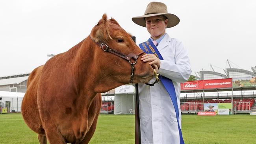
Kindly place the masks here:
[[(106, 46), (102, 50), (96, 42), (104, 42), (125, 55), (139, 54), (142, 51), (131, 35), (104, 14), (90, 36), (30, 74), (22, 116), (38, 133), (40, 144), (47, 140), (50, 144), (87, 144), (96, 129), (100, 92), (130, 83), (129, 61), (105, 52)], [(134, 65), (133, 83), (146, 83), (154, 74), (152, 66), (140, 58)]]

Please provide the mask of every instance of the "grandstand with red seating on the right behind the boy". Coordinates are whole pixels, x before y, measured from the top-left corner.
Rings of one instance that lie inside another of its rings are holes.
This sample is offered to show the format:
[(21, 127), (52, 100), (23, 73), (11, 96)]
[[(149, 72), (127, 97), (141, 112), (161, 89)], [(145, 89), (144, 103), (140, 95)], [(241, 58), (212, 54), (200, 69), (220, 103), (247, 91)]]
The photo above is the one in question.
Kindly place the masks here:
[(181, 90), (182, 113), (205, 111), (205, 103), (231, 103), (234, 114), (256, 112), (256, 66), (251, 67), (251, 72), (232, 68), (228, 60), (227, 63), (229, 68), (223, 70), (224, 74), (216, 72), (211, 65), (212, 71), (202, 69), (195, 72), (195, 80), (232, 78), (232, 87)]

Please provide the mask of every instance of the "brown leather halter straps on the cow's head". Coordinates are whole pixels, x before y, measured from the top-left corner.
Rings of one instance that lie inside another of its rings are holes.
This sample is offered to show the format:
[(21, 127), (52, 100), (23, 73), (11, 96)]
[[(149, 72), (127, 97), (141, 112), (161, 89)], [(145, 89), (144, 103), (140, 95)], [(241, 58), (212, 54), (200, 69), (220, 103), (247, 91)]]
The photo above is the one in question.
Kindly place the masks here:
[[(90, 35), (90, 37), (91, 37), (91, 35)], [(91, 37), (91, 39), (92, 39), (93, 42), (95, 42), (98, 46), (100, 46), (100, 48), (101, 48), (102, 50), (104, 50), (105, 52), (110, 52), (110, 53), (112, 53), (112, 54), (114, 54), (114, 55), (117, 55), (117, 56), (119, 56), (119, 57), (121, 57), (121, 58), (126, 59), (127, 61), (129, 61), (129, 63), (130, 63), (131, 66), (132, 66), (132, 74), (131, 74), (131, 79), (130, 79), (130, 83), (132, 83), (132, 80), (133, 80), (133, 78), (134, 78), (134, 65), (135, 65), (135, 63), (137, 63), (137, 59), (139, 58), (139, 55), (144, 54), (145, 52), (141, 52), (141, 53), (139, 53), (139, 54), (130, 53), (130, 54), (128, 54), (128, 55), (125, 55), (125, 54), (123, 54), (122, 52), (119, 52), (119, 51), (117, 51), (117, 50), (115, 50), (115, 49), (113, 49), (113, 48), (110, 48), (107, 44), (96, 42), (92, 37)], [(134, 59), (135, 62), (131, 62), (131, 59)]]

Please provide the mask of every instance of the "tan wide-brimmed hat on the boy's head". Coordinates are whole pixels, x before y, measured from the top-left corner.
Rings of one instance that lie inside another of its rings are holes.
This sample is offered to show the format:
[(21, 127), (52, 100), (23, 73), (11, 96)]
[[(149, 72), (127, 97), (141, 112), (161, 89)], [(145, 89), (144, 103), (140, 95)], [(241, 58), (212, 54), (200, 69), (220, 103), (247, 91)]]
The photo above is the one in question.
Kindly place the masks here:
[(176, 26), (180, 22), (180, 18), (178, 18), (174, 14), (168, 13), (167, 6), (161, 2), (150, 2), (146, 8), (144, 15), (139, 17), (133, 17), (132, 21), (135, 22), (135, 24), (146, 27), (145, 18), (157, 15), (164, 15), (168, 18), (168, 24), (166, 28)]

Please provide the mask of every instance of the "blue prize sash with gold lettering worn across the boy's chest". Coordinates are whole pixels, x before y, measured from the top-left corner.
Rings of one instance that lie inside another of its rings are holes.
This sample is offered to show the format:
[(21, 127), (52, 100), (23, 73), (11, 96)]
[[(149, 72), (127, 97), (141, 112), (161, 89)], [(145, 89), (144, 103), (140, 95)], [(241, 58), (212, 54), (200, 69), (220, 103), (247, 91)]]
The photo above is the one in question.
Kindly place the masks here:
[[(158, 59), (163, 60), (163, 57), (161, 56), (160, 52), (158, 51), (158, 49), (156, 48), (154, 43), (151, 41), (151, 39), (148, 39), (148, 41), (146, 41), (146, 42), (142, 42), (141, 44), (139, 44), (139, 47), (146, 54), (154, 54), (154, 55), (156, 55), (156, 57)], [(163, 83), (167, 92), (169, 93), (169, 95), (171, 97), (171, 100), (173, 102), (173, 106), (174, 106), (174, 109), (175, 109), (175, 112), (176, 112), (176, 118), (177, 118), (177, 122), (178, 122), (178, 129), (179, 129), (179, 133), (180, 133), (180, 144), (185, 144), (184, 140), (183, 140), (183, 137), (182, 137), (180, 124), (179, 124), (178, 102), (177, 102), (177, 96), (176, 96), (176, 93), (175, 93), (175, 88), (174, 88), (174, 85), (173, 85), (173, 81), (171, 79), (166, 78), (166, 77), (161, 76), (161, 75), (160, 75), (160, 80)]]

